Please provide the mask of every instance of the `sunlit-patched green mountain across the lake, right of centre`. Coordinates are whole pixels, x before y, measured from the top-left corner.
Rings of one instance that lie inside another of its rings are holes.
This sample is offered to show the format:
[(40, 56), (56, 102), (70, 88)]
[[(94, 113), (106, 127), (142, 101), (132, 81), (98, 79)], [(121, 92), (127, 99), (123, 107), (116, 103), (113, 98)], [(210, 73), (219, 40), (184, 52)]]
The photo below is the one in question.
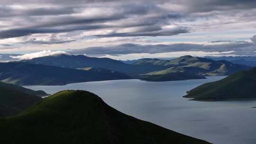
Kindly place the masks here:
[[(138, 62), (137, 62), (138, 63)], [(145, 63), (145, 62), (144, 62)], [(162, 62), (164, 63), (164, 62)], [(251, 67), (246, 65), (234, 64), (225, 60), (214, 61), (207, 58), (192, 57), (185, 55), (174, 59), (173, 61), (166, 61), (163, 65), (169, 67), (165, 70), (146, 73), (147, 75), (159, 75), (172, 72), (185, 72), (196, 75), (229, 75), (241, 70), (248, 70)]]

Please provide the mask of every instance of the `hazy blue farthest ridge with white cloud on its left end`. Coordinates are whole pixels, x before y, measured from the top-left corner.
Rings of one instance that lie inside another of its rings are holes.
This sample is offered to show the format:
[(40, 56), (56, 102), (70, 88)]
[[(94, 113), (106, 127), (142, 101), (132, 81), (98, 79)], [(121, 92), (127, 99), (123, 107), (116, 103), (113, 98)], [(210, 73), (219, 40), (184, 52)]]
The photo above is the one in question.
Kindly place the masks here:
[(44, 56), (38, 57), (31, 60), (24, 60), (22, 62), (34, 63), (34, 64), (44, 64), (51, 66), (58, 66), (64, 68), (103, 68), (112, 71), (122, 72), (128, 74), (129, 76), (136, 76), (141, 73), (152, 72), (156, 70), (163, 70), (161, 66), (148, 66), (148, 65), (132, 65), (122, 63), (117, 60), (110, 58), (97, 58), (88, 57), (85, 55), (67, 55), (61, 54), (56, 56)]

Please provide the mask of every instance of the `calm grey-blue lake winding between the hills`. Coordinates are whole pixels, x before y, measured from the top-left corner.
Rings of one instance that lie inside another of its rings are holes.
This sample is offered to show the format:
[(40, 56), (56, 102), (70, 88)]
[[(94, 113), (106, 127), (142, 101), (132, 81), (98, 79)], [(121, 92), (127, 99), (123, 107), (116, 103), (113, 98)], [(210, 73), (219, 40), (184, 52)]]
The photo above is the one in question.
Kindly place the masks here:
[(256, 100), (191, 101), (186, 91), (224, 76), (187, 81), (148, 82), (117, 80), (73, 83), (65, 86), (25, 86), (54, 94), (60, 90), (87, 90), (111, 107), (176, 132), (214, 144), (255, 144)]

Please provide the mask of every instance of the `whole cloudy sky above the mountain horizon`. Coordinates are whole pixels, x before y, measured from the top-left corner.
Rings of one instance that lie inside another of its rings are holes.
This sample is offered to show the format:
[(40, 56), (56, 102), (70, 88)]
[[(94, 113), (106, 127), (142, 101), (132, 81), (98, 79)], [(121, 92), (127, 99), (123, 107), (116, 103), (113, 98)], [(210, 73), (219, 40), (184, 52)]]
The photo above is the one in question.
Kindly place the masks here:
[(256, 0), (1, 0), (0, 54), (62, 53), (254, 56)]

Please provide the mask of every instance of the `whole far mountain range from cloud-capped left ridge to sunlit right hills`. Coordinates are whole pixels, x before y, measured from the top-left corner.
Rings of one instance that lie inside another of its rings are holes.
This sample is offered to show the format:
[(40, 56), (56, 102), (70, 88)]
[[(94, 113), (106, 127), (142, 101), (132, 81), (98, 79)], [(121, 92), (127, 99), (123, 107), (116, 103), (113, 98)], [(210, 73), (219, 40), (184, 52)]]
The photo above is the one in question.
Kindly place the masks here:
[(246, 65), (234, 64), (225, 60), (214, 61), (206, 58), (192, 57), (190, 55), (185, 55), (174, 60), (139, 59), (132, 64), (122, 63), (109, 58), (67, 54), (38, 57), (23, 62), (72, 69), (83, 69), (87, 67), (104, 68), (146, 81), (204, 79), (205, 76), (229, 75), (250, 68)]

